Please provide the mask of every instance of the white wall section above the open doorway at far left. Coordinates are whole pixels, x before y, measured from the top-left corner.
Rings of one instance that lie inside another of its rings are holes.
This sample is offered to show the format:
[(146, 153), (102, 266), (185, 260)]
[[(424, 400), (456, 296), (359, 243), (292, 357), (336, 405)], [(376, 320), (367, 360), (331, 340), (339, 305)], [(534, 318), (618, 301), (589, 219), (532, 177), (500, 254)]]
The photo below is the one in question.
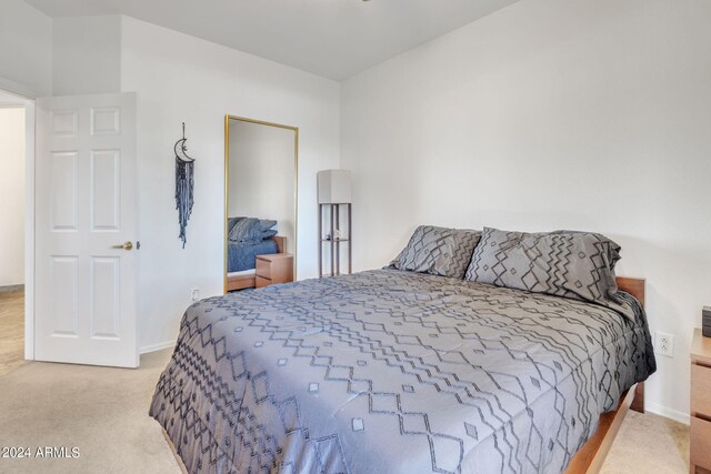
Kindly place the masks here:
[(0, 87), (49, 94), (51, 58), (52, 20), (22, 0), (0, 0)]

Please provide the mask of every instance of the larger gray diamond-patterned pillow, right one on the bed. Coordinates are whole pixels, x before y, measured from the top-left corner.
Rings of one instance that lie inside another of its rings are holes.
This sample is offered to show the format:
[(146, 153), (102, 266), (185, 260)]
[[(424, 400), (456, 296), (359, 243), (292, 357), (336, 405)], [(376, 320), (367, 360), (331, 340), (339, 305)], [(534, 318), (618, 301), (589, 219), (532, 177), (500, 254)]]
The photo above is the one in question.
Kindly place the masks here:
[(617, 296), (620, 245), (587, 232), (484, 228), (464, 280), (589, 301), (632, 317)]

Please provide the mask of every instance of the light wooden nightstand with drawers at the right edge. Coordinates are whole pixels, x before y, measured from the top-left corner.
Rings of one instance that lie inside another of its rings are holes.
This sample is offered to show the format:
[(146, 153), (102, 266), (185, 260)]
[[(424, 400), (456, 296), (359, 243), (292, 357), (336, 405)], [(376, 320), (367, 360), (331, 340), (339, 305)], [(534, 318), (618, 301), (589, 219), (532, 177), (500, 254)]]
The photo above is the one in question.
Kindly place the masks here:
[(711, 474), (711, 337), (693, 331), (691, 342), (690, 472)]

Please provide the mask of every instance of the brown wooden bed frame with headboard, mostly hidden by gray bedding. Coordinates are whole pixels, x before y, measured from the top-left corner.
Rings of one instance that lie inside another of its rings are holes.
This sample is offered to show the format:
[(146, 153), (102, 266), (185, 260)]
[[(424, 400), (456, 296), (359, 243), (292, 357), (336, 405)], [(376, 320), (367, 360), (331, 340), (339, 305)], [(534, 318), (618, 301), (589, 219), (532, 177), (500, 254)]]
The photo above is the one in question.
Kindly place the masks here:
[[(279, 252), (283, 253), (283, 238), (274, 238), (282, 239), (281, 246), (279, 246)], [(280, 245), (277, 242), (277, 245)], [(632, 296), (637, 297), (642, 306), (644, 305), (644, 280), (643, 279), (632, 279), (625, 276), (617, 278), (618, 288), (621, 291), (630, 293)], [(249, 288), (249, 286), (246, 286)], [(638, 383), (632, 385), (630, 390), (622, 394), (620, 400), (620, 404), (617, 410), (608, 413), (603, 413), (600, 415), (600, 422), (598, 424), (598, 430), (588, 440), (585, 444), (575, 453), (573, 458), (568, 464), (568, 468), (565, 470), (565, 474), (595, 474), (600, 472), (602, 464), (604, 463), (604, 458), (610, 452), (612, 447), (612, 442), (614, 441), (618, 432), (620, 431), (620, 426), (622, 425), (622, 421), (627, 415), (629, 410), (633, 410), (635, 412), (644, 413), (644, 383)], [(176, 456), (176, 461), (180, 466), (180, 470), (187, 474), (188, 470), (183, 464), (182, 460), (178, 455), (178, 451), (176, 446), (170, 441), (168, 433), (164, 428), (163, 436), (170, 446), (170, 450)]]

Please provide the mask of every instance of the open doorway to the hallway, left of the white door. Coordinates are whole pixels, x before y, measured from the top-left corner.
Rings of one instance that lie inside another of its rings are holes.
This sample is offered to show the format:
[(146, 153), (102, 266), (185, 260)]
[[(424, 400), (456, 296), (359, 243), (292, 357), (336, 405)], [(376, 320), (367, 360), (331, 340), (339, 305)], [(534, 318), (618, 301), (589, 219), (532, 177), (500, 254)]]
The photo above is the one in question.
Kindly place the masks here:
[(26, 255), (31, 252), (27, 196), (31, 191), (28, 169), (32, 168), (28, 157), (34, 140), (32, 105), (30, 100), (0, 90), (0, 375), (22, 365), (30, 355), (26, 299), (31, 285), (26, 284)]

